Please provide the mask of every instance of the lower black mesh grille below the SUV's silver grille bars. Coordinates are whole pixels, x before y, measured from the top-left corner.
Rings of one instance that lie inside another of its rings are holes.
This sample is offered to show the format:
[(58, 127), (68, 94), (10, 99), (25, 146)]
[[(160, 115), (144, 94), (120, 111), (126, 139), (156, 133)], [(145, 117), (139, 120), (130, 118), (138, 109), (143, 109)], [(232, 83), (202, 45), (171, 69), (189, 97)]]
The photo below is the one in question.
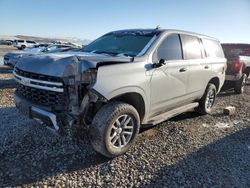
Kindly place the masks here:
[(19, 83), (16, 91), (19, 95), (38, 105), (65, 108), (68, 103), (68, 97), (65, 92), (47, 91)]

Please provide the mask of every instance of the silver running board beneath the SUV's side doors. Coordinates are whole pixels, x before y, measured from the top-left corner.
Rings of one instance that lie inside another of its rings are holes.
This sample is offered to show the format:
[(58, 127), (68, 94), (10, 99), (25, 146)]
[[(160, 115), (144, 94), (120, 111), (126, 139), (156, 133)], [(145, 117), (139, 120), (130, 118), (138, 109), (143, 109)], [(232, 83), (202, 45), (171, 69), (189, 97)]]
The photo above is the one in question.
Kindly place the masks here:
[(161, 123), (163, 121), (166, 121), (174, 116), (177, 116), (177, 115), (182, 114), (184, 112), (187, 112), (189, 110), (193, 110), (194, 108), (196, 108), (198, 106), (199, 106), (199, 103), (195, 102), (195, 103), (187, 104), (185, 106), (181, 106), (179, 108), (175, 108), (173, 110), (167, 111), (163, 114), (160, 114), (160, 115), (153, 117), (152, 119), (149, 120), (148, 124), (156, 125), (156, 124)]

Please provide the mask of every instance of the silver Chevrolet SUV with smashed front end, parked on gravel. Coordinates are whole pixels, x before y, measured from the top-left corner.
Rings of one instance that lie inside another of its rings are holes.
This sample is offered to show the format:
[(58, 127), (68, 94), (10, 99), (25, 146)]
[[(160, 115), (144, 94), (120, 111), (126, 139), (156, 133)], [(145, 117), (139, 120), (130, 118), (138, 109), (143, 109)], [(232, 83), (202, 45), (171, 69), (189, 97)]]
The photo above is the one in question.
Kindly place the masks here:
[(124, 154), (140, 127), (195, 109), (211, 112), (226, 70), (218, 40), (191, 32), (110, 32), (80, 52), (21, 59), (21, 112), (54, 130), (87, 126), (94, 149)]

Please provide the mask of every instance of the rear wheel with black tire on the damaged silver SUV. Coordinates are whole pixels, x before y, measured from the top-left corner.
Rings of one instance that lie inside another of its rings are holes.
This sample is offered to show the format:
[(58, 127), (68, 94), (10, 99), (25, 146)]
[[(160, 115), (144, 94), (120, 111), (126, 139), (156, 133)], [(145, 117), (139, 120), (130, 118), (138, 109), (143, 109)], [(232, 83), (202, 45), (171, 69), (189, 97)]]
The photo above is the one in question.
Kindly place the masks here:
[(197, 107), (196, 111), (202, 115), (210, 114), (212, 112), (212, 107), (215, 103), (215, 99), (216, 99), (216, 87), (214, 84), (209, 83), (204, 95), (199, 101), (199, 106)]

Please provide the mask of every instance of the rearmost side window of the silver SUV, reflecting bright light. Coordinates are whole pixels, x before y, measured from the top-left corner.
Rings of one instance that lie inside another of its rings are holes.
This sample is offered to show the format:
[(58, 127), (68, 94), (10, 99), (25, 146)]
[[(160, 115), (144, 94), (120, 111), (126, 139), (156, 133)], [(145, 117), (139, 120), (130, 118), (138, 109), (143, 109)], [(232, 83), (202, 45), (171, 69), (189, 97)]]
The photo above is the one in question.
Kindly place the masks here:
[(224, 58), (223, 49), (218, 41), (202, 39), (208, 57)]

